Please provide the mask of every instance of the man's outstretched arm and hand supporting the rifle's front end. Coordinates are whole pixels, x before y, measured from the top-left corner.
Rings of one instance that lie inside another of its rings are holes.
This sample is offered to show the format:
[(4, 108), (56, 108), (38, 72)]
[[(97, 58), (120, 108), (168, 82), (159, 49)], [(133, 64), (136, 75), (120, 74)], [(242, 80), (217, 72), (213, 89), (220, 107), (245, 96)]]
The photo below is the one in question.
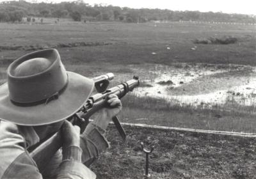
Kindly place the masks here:
[[(108, 141), (103, 134), (109, 121), (111, 121), (111, 116), (115, 116), (122, 109), (122, 104), (116, 95), (111, 95), (109, 98), (112, 98), (112, 100), (109, 99), (109, 107), (96, 113), (93, 116), (94, 121), (90, 123), (88, 127), (86, 127), (86, 131), (81, 134), (80, 147), (83, 150), (82, 162), (86, 166), (90, 166), (90, 164), (99, 157), (100, 153), (108, 148)], [(100, 127), (96, 125), (96, 122)], [(102, 127), (102, 124), (105, 127)], [(44, 171), (42, 171), (43, 176), (47, 176), (48, 178), (56, 176), (57, 168), (60, 166), (61, 161), (62, 154), (59, 150), (54, 157), (52, 157), (51, 162), (45, 167)]]

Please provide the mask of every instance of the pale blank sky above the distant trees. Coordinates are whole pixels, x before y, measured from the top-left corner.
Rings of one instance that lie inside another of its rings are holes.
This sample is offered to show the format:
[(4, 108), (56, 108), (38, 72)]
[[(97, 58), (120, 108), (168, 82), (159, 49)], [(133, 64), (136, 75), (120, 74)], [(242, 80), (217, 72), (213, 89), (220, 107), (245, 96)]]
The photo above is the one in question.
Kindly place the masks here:
[[(3, 1), (3, 0), (0, 0)], [(28, 0), (60, 3), (72, 0)], [(129, 8), (159, 8), (169, 10), (198, 10), (200, 12), (243, 13), (256, 15), (256, 0), (83, 0), (88, 4), (104, 4)]]

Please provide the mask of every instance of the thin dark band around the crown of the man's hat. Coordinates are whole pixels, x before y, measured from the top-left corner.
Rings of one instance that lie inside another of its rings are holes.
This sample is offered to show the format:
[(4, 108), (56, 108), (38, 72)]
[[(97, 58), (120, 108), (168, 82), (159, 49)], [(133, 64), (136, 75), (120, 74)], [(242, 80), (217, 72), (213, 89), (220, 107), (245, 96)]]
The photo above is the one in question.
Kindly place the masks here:
[[(68, 74), (67, 74), (68, 75)], [(13, 100), (11, 100), (11, 102), (14, 104), (14, 105), (19, 105), (21, 107), (29, 107), (29, 106), (33, 106), (33, 105), (39, 105), (39, 104), (48, 104), (51, 100), (56, 100), (59, 98), (59, 96), (61, 95), (61, 93), (63, 93), (65, 91), (65, 89), (67, 89), (67, 86), (68, 86), (68, 77), (67, 77), (67, 82), (66, 84), (63, 86), (63, 88), (60, 89), (60, 91), (57, 91), (56, 93), (53, 93), (51, 95), (51, 97), (47, 97), (47, 98), (44, 98), (42, 100), (38, 100), (38, 101), (35, 101), (35, 102), (15, 102)]]

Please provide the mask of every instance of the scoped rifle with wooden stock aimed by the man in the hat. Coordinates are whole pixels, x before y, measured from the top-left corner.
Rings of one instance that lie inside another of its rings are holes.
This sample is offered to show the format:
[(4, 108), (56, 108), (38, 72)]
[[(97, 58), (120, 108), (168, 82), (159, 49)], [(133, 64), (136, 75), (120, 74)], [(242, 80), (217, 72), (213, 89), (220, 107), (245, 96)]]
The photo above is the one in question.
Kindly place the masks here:
[[(84, 132), (86, 125), (88, 125), (90, 116), (92, 116), (92, 114), (96, 113), (100, 109), (106, 107), (108, 96), (110, 94), (115, 94), (118, 98), (122, 98), (129, 91), (132, 91), (136, 86), (139, 86), (140, 84), (138, 77), (134, 76), (133, 79), (122, 82), (121, 84), (106, 90), (106, 88), (108, 88), (109, 81), (112, 80), (113, 77), (114, 75), (110, 73), (93, 78), (93, 81), (95, 82), (95, 88), (98, 92), (102, 92), (89, 97), (88, 100), (84, 103), (83, 107), (77, 110), (77, 113), (72, 116), (72, 124), (78, 125), (81, 128), (81, 133)], [(117, 116), (113, 117), (112, 120), (122, 139), (125, 140), (126, 134)], [(51, 137), (49, 137), (49, 139), (46, 139), (42, 143), (29, 148), (28, 151), (30, 157), (35, 160), (38, 169), (42, 170), (51, 160), (51, 157), (61, 148), (61, 146), (61, 132), (56, 132)]]

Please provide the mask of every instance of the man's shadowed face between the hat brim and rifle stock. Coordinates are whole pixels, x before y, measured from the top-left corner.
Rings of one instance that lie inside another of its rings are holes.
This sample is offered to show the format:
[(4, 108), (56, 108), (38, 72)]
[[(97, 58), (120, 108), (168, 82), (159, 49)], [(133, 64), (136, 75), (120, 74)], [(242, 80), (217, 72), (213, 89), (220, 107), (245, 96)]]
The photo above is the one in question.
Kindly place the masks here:
[(49, 137), (52, 134), (54, 134), (55, 132), (57, 132), (58, 130), (60, 130), (63, 122), (64, 122), (64, 120), (56, 122), (56, 123), (51, 123), (48, 125), (35, 126), (33, 128), (35, 129), (36, 134), (38, 135), (40, 140), (42, 140), (42, 139), (45, 139), (45, 137)]

